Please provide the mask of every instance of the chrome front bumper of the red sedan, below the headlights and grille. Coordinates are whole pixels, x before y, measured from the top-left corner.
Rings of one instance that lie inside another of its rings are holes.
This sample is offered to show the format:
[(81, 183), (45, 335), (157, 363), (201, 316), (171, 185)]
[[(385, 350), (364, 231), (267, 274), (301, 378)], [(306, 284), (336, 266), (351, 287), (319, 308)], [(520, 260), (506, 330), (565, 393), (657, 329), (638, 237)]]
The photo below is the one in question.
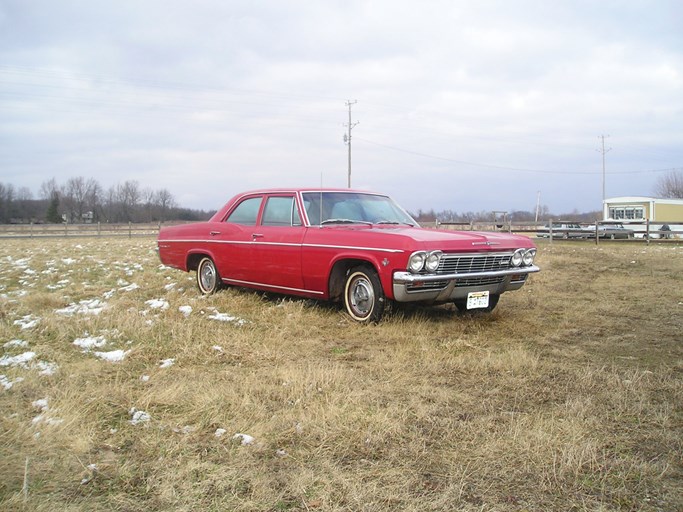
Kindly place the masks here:
[(501, 294), (521, 288), (528, 274), (541, 269), (530, 267), (462, 272), (452, 274), (412, 274), (394, 272), (393, 291), (397, 302), (448, 302), (463, 299), (474, 291)]

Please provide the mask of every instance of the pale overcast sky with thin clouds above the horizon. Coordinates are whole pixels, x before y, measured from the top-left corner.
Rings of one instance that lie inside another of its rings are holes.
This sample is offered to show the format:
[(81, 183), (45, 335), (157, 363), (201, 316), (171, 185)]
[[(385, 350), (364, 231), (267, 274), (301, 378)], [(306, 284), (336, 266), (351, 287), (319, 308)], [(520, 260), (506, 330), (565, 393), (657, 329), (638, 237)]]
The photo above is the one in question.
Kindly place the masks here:
[[(595, 211), (683, 171), (681, 0), (0, 0), (0, 183)], [(350, 107), (349, 107), (350, 104)], [(604, 152), (603, 137), (604, 136)]]

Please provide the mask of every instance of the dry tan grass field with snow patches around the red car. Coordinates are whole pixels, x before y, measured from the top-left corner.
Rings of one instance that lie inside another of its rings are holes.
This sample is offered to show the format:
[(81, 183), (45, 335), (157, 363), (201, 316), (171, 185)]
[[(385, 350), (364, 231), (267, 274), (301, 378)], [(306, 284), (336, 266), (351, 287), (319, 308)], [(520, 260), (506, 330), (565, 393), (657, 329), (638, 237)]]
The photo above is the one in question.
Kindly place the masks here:
[(0, 509), (683, 510), (683, 247), (371, 326), (154, 247), (0, 244)]

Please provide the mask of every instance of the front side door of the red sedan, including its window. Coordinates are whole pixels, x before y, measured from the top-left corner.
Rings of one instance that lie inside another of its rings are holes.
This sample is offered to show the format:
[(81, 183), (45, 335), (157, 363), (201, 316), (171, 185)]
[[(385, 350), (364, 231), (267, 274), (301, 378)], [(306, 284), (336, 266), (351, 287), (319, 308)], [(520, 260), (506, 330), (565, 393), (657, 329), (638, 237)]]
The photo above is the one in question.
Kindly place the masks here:
[(294, 194), (266, 196), (252, 236), (255, 283), (283, 291), (302, 291), (301, 244), (305, 229)]

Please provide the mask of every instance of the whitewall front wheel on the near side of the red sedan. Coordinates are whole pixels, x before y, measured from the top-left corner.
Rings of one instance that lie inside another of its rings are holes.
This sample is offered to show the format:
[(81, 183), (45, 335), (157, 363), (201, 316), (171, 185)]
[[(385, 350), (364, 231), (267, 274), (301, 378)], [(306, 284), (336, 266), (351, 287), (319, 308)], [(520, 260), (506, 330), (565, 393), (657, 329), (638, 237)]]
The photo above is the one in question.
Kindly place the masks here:
[(386, 299), (374, 269), (352, 268), (344, 286), (346, 312), (357, 322), (378, 322), (384, 313)]

